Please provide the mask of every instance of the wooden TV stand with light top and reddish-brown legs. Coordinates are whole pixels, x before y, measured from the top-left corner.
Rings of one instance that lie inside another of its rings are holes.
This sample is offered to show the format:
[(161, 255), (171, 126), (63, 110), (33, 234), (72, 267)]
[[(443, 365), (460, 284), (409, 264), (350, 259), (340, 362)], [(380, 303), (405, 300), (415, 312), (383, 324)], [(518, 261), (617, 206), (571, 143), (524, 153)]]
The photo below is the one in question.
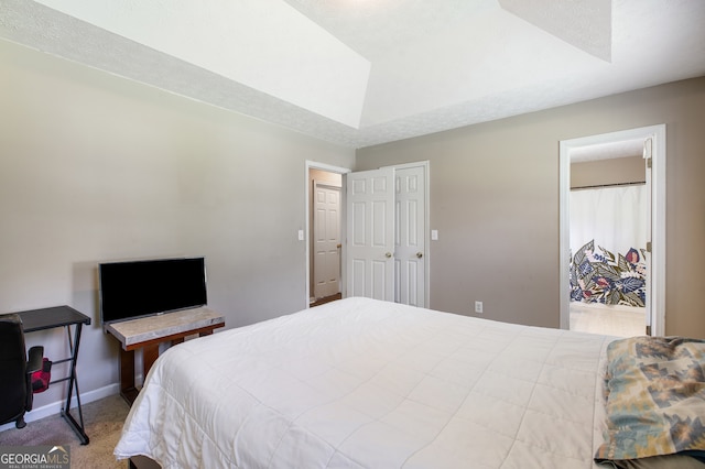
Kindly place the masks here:
[(110, 323), (105, 331), (120, 341), (120, 395), (132, 405), (139, 390), (134, 385), (134, 350), (142, 350), (143, 371), (147, 379), (154, 360), (159, 357), (159, 346), (181, 343), (187, 336), (208, 336), (225, 326), (225, 318), (207, 307), (184, 309), (174, 313)]

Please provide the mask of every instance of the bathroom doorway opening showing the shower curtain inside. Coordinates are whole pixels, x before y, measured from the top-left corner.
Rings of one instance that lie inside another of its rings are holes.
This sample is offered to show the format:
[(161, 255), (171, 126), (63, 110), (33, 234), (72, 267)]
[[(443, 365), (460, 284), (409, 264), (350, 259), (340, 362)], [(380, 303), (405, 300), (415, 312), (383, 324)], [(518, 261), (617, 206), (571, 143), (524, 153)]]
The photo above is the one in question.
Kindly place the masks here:
[(643, 139), (571, 152), (570, 329), (633, 337), (647, 324)]

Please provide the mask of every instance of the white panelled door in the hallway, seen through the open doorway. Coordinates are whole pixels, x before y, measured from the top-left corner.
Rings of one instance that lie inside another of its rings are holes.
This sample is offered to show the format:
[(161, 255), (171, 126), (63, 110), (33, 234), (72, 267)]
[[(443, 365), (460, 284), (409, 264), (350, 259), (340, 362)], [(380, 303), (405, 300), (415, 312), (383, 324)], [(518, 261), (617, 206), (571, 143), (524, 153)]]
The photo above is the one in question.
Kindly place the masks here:
[(340, 188), (314, 182), (314, 296), (340, 292)]

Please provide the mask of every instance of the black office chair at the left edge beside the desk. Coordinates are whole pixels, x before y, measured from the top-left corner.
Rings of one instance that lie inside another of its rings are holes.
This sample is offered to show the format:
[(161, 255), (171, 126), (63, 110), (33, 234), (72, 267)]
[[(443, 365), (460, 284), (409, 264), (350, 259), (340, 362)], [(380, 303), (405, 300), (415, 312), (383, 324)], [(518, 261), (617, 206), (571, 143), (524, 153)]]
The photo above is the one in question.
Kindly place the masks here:
[(0, 425), (13, 422), (24, 428), (24, 413), (32, 410), (32, 373), (42, 369), (44, 347), (30, 349), (28, 360), (22, 319), (0, 315)]

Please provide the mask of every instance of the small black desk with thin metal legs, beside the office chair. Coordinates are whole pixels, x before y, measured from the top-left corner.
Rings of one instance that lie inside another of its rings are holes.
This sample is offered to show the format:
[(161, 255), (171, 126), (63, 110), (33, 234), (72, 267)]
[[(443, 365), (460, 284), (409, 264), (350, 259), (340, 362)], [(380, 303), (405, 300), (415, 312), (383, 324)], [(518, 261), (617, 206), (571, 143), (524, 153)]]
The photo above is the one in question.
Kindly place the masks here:
[[(66, 395), (66, 404), (62, 408), (62, 416), (73, 428), (73, 430), (80, 439), (82, 445), (88, 445), (88, 435), (86, 435), (84, 426), (84, 414), (80, 410), (80, 394), (78, 393), (78, 382), (76, 381), (76, 361), (78, 360), (78, 346), (80, 345), (80, 330), (83, 325), (90, 325), (90, 318), (83, 313), (78, 313), (70, 306), (54, 306), (51, 308), (32, 309), (26, 312), (19, 312), (18, 315), (22, 318), (22, 329), (25, 334), (34, 332), (37, 330), (53, 329), (55, 327), (65, 327), (68, 335), (68, 348), (70, 357), (63, 360), (52, 360), (54, 363), (70, 363), (70, 371), (68, 377), (52, 381), (50, 384), (68, 381), (68, 393)], [(74, 337), (70, 336), (70, 326), (74, 326)], [(70, 399), (76, 389), (76, 402), (78, 403), (78, 419), (80, 424), (76, 422), (73, 415), (70, 415)]]

